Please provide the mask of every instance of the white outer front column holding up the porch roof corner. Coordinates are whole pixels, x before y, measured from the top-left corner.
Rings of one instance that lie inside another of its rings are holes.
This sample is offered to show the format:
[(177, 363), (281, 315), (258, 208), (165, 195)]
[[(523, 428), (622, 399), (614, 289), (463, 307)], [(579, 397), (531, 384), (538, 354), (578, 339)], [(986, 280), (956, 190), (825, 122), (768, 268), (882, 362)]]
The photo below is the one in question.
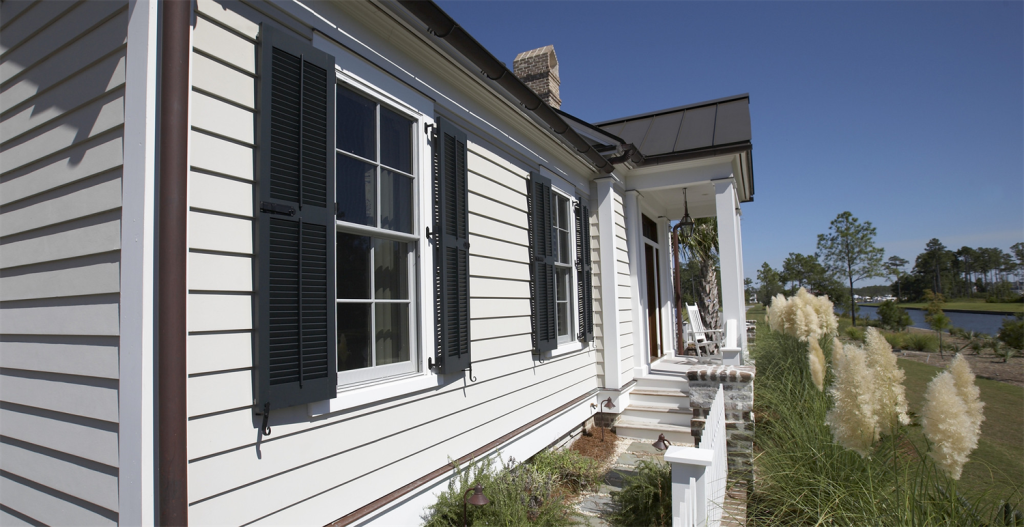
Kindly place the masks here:
[[(743, 303), (743, 262), (739, 250), (739, 214), (735, 182), (730, 177), (713, 183), (715, 211), (718, 216), (719, 258), (722, 264), (722, 311), (726, 328), (722, 362), (741, 364), (746, 306)], [(729, 323), (730, 320), (732, 324)], [(730, 331), (734, 332), (732, 336), (729, 335)]]

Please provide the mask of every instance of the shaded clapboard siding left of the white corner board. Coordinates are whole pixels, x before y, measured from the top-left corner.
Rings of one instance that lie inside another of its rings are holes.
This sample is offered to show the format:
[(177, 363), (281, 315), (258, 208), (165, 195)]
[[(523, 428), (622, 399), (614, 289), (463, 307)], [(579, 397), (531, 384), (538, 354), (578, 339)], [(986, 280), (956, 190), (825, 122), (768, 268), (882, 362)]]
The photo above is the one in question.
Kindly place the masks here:
[(117, 522), (127, 24), (124, 0), (0, 4), (3, 525)]

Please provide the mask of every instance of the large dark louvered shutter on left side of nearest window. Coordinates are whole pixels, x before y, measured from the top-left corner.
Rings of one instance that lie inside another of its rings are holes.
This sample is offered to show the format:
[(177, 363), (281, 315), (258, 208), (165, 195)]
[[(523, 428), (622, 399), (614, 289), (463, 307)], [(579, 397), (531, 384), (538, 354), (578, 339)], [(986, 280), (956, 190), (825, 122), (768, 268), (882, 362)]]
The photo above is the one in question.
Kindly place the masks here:
[(260, 33), (257, 411), (337, 395), (334, 57)]

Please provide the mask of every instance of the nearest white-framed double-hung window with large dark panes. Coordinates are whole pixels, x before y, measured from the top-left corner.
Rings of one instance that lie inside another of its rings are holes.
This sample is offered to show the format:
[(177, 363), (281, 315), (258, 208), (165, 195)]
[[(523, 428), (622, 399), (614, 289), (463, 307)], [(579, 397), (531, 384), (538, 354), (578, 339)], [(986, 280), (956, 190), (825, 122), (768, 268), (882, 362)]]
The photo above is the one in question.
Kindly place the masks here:
[(416, 370), (416, 121), (337, 88), (339, 383)]

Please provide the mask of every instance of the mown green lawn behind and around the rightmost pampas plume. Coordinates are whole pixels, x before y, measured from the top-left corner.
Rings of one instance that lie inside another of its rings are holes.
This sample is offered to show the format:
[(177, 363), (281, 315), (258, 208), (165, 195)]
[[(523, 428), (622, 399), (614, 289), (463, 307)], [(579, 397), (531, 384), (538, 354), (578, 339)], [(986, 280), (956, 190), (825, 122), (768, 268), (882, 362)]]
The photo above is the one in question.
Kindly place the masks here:
[[(918, 414), (924, 404), (925, 388), (940, 368), (913, 360), (899, 359), (906, 372), (907, 402)], [(978, 449), (964, 467), (961, 489), (986, 499), (1024, 501), (1024, 388), (978, 379), (981, 400), (985, 402), (985, 422), (981, 427)], [(915, 419), (916, 421), (916, 419)], [(925, 451), (920, 426), (910, 427), (910, 438)]]

